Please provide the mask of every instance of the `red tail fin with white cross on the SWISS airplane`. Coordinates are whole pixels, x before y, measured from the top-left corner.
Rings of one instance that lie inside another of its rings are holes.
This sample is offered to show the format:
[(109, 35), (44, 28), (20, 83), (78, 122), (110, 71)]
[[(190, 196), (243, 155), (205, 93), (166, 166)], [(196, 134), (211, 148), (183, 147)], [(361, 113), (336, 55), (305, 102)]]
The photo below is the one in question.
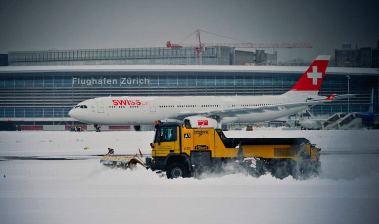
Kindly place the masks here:
[(317, 95), (330, 55), (319, 55), (295, 86), (285, 94)]

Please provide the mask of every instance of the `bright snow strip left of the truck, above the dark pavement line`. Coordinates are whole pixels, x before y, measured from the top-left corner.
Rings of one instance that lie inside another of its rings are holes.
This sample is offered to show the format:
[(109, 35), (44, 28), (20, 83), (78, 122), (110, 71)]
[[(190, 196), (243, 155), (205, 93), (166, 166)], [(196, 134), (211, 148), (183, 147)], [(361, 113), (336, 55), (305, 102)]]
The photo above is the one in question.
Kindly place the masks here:
[[(51, 156), (151, 153), (154, 132), (0, 132), (0, 156)], [(85, 147), (88, 149), (84, 150)]]

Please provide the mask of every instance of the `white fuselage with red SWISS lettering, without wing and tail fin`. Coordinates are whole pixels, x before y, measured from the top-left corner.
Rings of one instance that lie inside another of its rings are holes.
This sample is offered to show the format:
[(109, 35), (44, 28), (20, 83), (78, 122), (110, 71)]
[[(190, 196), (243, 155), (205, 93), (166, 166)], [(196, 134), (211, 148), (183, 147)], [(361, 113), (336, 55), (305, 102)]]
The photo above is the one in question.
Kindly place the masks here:
[[(262, 105), (280, 105), (304, 101), (304, 98), (274, 96), (120, 96), (85, 100), (73, 108), (69, 115), (79, 121), (98, 125), (152, 125), (174, 113), (201, 112)], [(80, 105), (83, 105), (80, 107)], [(85, 106), (84, 106), (85, 105)], [(84, 107), (84, 108), (83, 108)], [(85, 108), (86, 107), (86, 108)], [(292, 115), (307, 106), (276, 110), (261, 109), (255, 113), (230, 114), (221, 120), (227, 123), (264, 122)], [(169, 120), (171, 121), (171, 120)], [(178, 121), (178, 120), (172, 120)], [(179, 121), (182, 122), (182, 121)]]

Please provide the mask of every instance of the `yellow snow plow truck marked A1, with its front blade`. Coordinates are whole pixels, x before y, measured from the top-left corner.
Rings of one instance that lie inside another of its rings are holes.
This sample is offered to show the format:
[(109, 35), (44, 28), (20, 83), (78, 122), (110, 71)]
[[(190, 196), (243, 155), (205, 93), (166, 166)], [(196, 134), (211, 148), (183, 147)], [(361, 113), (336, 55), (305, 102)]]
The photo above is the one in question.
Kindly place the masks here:
[[(254, 177), (271, 173), (283, 179), (318, 176), (319, 151), (305, 138), (226, 138), (220, 129), (192, 128), (168, 122), (156, 125), (152, 157), (145, 165), (167, 178), (206, 172), (245, 172)], [(129, 165), (130, 157), (103, 156), (104, 164)], [(134, 162), (135, 163), (135, 162)], [(141, 163), (141, 162), (139, 162)], [(230, 168), (231, 167), (231, 168)]]

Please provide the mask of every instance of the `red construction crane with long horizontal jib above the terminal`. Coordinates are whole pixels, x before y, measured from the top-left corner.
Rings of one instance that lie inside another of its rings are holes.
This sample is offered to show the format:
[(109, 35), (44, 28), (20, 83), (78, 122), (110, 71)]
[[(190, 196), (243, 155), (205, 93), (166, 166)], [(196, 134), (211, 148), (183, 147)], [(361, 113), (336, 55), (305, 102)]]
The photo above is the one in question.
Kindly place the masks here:
[(231, 47), (231, 48), (312, 48), (312, 45), (308, 43), (250, 43), (250, 42), (244, 42), (244, 43), (202, 43), (200, 39), (200, 32), (209, 33), (221, 37), (225, 37), (228, 39), (233, 39), (237, 41), (241, 41), (238, 39), (222, 36), (219, 34), (211, 33), (208, 31), (197, 29), (195, 32), (188, 35), (184, 40), (180, 41), (183, 42), (188, 37), (192, 36), (196, 33), (196, 44), (192, 43), (186, 43), (186, 44), (174, 44), (171, 43), (171, 41), (166, 42), (167, 47), (188, 47), (188, 48), (195, 48), (196, 49), (196, 64), (201, 65), (202, 64), (202, 52), (205, 51), (206, 47)]

